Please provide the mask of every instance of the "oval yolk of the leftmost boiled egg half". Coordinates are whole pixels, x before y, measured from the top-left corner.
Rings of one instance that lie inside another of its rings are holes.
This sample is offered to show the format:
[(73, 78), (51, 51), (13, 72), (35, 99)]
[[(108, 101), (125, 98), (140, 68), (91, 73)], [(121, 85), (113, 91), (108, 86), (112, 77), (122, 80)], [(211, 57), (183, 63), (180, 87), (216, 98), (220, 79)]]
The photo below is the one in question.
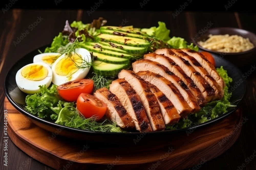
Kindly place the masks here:
[(31, 81), (39, 81), (45, 79), (48, 70), (41, 65), (30, 65), (22, 69), (21, 75)]

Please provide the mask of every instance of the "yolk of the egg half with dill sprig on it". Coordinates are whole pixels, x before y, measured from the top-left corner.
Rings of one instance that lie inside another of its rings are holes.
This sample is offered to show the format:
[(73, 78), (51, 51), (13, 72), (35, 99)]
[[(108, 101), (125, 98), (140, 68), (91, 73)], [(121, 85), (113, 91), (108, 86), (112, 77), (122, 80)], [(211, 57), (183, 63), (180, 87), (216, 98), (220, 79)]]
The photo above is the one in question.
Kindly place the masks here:
[(70, 77), (78, 70), (77, 66), (81, 66), (81, 63), (82, 59), (77, 54), (71, 57), (62, 58), (56, 64), (55, 72), (58, 75)]

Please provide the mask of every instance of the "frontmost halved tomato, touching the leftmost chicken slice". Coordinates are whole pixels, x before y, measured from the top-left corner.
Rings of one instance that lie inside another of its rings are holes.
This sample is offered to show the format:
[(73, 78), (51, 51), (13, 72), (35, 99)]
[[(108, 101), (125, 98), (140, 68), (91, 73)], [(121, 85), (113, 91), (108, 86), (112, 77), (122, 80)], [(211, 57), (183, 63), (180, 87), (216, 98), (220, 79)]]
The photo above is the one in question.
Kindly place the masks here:
[(85, 118), (97, 117), (97, 120), (100, 120), (107, 110), (107, 105), (93, 95), (81, 93), (77, 98), (77, 110)]

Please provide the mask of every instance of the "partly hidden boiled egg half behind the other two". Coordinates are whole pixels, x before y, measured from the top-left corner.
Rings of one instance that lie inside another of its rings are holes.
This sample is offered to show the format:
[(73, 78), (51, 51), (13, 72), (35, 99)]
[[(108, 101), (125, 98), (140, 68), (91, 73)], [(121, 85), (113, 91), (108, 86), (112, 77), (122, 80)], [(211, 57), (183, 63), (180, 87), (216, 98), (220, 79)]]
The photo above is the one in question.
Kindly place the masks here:
[(60, 53), (41, 53), (38, 55), (35, 55), (33, 59), (33, 63), (36, 62), (44, 62), (52, 67), (52, 64), (56, 61), (57, 58), (60, 57)]

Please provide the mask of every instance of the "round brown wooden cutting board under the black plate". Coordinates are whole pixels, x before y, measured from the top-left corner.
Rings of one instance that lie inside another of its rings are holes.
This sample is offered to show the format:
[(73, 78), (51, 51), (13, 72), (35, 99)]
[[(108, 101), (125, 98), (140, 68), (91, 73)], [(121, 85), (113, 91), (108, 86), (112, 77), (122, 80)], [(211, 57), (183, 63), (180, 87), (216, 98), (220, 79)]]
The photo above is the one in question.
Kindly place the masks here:
[[(174, 134), (161, 146), (111, 146), (88, 144), (54, 136), (31, 123), (7, 98), (8, 136), (32, 158), (55, 169), (185, 169), (204, 163), (225, 152), (237, 140), (242, 109), (223, 120), (190, 132)], [(241, 124), (241, 123), (240, 123)]]

